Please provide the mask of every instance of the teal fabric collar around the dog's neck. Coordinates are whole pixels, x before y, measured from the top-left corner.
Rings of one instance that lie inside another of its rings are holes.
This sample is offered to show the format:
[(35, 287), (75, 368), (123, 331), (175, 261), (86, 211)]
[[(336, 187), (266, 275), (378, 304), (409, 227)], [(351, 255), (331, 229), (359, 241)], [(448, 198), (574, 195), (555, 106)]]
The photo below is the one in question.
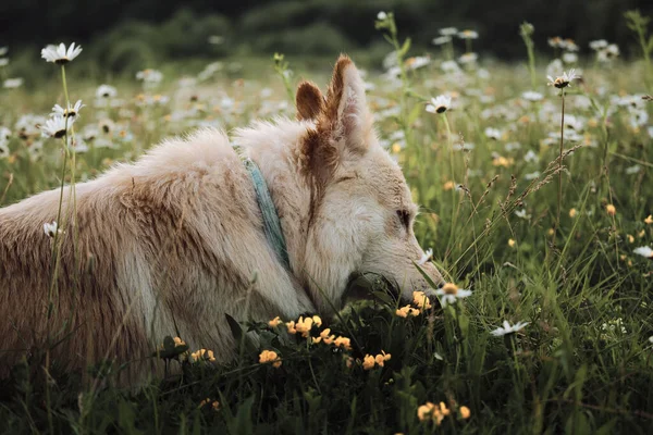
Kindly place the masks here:
[(288, 250), (283, 237), (283, 231), (281, 229), (281, 222), (279, 221), (279, 213), (272, 202), (272, 196), (270, 196), (270, 189), (268, 184), (261, 174), (261, 170), (251, 159), (242, 157), (243, 163), (249, 172), (249, 177), (254, 184), (254, 191), (256, 192), (256, 200), (261, 215), (263, 217), (263, 228), (266, 231), (266, 237), (274, 249), (279, 261), (285, 266), (287, 271), (291, 271), (291, 260), (288, 259)]

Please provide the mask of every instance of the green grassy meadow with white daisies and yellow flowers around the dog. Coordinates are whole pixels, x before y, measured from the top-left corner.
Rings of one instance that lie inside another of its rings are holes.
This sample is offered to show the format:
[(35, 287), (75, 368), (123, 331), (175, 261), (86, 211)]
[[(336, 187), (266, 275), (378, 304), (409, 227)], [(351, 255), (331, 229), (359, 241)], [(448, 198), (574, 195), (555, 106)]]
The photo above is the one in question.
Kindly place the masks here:
[[(44, 371), (46, 349), (33, 349), (0, 381), (0, 433), (649, 433), (653, 38), (641, 16), (620, 20), (637, 58), (553, 36), (534, 48), (525, 24), (523, 61), (505, 64), (475, 53), (471, 30), (441, 29), (418, 51), (391, 13), (377, 17), (389, 55), (358, 66), (420, 204), (418, 239), (451, 284), (441, 307), (399, 304), (365, 277), (369, 299), (334, 319), (232, 322), (242, 345), (227, 366), (171, 325), (152, 358), (180, 370), (141, 388), (116, 386), (112, 361)], [(101, 83), (75, 74), (82, 51), (36, 88), (0, 66), (0, 206), (171, 135), (294, 117), (296, 84), (324, 89), (337, 54), (323, 67), (275, 54)], [(45, 127), (53, 104), (77, 100), (73, 125)]]

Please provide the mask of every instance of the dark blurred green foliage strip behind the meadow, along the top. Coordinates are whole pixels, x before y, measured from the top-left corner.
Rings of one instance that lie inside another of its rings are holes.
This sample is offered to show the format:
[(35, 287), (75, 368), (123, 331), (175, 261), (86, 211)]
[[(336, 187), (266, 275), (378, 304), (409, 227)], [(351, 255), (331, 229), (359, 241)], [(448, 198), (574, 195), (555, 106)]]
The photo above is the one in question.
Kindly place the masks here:
[[(518, 26), (535, 26), (535, 44), (546, 38), (572, 38), (589, 52), (590, 40), (605, 38), (634, 51), (634, 39), (623, 13), (640, 9), (653, 13), (643, 0), (59, 0), (0, 2), (0, 46), (9, 46), (13, 75), (29, 77), (44, 67), (38, 59), (47, 44), (76, 41), (84, 46), (86, 72), (132, 73), (163, 61), (268, 57), (275, 51), (330, 57), (344, 51), (379, 64), (387, 53), (374, 30), (379, 11), (394, 11), (399, 32), (414, 38), (414, 51), (433, 50), (438, 29), (456, 26), (480, 34), (475, 50), (503, 60), (523, 57)], [(210, 39), (213, 37), (212, 39)], [(211, 42), (213, 44), (211, 44)], [(582, 51), (581, 51), (582, 54)], [(95, 70), (91, 70), (93, 65)], [(84, 71), (82, 65), (77, 66)]]

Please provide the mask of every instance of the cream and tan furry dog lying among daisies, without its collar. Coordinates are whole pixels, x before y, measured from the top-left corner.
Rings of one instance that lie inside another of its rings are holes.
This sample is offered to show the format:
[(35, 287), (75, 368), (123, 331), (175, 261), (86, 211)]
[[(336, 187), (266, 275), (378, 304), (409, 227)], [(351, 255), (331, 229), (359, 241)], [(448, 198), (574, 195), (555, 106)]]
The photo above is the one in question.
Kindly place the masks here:
[(52, 246), (42, 225), (57, 217), (60, 190), (0, 210), (0, 375), (48, 331), (71, 331), (51, 355), (70, 366), (147, 357), (175, 327), (226, 361), (233, 339), (223, 313), (329, 314), (326, 298), (337, 307), (357, 272), (386, 276), (407, 298), (429, 290), (414, 264), (423, 254), (412, 233), (417, 207), (378, 144), (348, 58), (338, 59), (325, 97), (299, 86), (297, 121), (255, 123), (234, 142), (266, 178), (292, 271), (266, 239), (251, 179), (226, 136), (205, 129), (168, 140), (76, 186), (49, 321)]

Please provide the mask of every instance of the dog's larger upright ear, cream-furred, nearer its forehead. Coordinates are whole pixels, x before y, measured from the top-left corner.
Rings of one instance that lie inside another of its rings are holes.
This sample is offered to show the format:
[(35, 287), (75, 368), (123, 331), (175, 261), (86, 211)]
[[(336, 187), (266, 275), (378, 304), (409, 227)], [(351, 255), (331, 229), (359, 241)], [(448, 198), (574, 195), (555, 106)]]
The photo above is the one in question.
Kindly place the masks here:
[(319, 123), (322, 130), (330, 130), (332, 140), (344, 141), (348, 151), (362, 154), (367, 150), (372, 120), (365, 83), (347, 55), (342, 54), (335, 63)]

